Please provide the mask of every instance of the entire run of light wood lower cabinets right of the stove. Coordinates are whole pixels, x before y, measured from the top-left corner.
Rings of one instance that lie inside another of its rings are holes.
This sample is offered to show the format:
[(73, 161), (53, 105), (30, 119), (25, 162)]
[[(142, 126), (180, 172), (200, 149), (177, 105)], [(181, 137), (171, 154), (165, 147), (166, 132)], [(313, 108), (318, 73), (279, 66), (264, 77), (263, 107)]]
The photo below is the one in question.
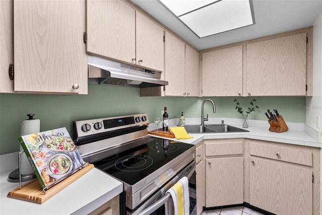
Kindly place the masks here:
[(276, 214), (322, 214), (320, 148), (204, 139), (197, 155), (197, 214), (203, 206), (244, 202)]

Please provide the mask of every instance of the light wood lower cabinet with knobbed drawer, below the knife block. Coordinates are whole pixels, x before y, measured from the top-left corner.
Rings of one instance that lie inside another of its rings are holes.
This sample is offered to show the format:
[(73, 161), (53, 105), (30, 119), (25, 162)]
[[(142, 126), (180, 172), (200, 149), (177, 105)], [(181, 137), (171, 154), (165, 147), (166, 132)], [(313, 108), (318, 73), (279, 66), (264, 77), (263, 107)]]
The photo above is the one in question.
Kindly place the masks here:
[(320, 153), (314, 147), (246, 139), (244, 201), (275, 214), (321, 214)]

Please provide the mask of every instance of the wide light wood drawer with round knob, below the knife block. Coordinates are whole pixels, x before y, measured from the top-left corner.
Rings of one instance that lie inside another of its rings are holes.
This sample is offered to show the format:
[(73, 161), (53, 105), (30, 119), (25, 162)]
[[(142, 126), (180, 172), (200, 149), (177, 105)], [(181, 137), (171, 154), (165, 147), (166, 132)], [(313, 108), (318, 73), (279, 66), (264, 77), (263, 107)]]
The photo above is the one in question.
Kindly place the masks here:
[(250, 154), (263, 158), (312, 166), (312, 153), (309, 150), (271, 146), (251, 142)]

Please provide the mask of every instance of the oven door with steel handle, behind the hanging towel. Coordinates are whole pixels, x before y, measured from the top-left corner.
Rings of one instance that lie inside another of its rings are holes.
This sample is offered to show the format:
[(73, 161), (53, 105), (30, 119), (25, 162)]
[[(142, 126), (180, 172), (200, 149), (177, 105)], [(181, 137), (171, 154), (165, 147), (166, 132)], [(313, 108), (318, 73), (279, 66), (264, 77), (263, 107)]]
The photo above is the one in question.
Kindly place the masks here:
[(186, 176), (188, 179), (193, 175), (196, 169), (196, 162), (193, 161), (184, 169), (182, 169), (177, 176), (168, 182), (162, 189), (160, 189), (157, 193), (150, 196), (149, 199), (142, 204), (139, 208), (135, 209), (135, 211), (127, 212), (128, 215), (167, 215), (168, 214), (168, 201), (171, 199), (170, 193), (167, 193), (167, 190), (177, 183), (182, 177)]

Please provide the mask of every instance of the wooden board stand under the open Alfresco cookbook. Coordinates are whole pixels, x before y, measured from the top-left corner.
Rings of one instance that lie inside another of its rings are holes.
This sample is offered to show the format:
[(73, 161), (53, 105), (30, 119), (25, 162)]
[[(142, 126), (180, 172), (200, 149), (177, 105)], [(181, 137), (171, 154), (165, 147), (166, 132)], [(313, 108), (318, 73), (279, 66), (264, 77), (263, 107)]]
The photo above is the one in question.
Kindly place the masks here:
[(93, 168), (93, 164), (85, 166), (84, 168), (68, 176), (58, 184), (50, 187), (48, 190), (46, 190), (46, 194), (44, 194), (44, 192), (42, 191), (38, 179), (35, 179), (29, 183), (24, 184), (21, 189), (18, 187), (10, 191), (7, 197), (42, 204)]

